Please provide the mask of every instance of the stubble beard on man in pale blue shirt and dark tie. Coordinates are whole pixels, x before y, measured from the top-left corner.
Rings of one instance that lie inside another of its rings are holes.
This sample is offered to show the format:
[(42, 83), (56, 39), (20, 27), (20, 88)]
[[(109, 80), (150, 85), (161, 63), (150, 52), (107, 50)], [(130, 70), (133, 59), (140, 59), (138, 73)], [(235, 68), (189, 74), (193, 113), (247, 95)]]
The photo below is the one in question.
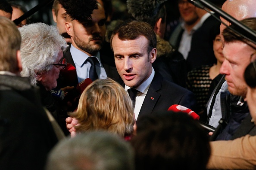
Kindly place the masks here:
[(81, 40), (76, 34), (74, 35), (74, 42), (76, 46), (78, 46), (79, 49), (83, 50), (84, 52), (88, 52), (89, 54), (95, 55), (97, 52), (100, 51), (102, 43), (98, 43), (96, 45), (90, 45), (85, 43), (83, 40)]

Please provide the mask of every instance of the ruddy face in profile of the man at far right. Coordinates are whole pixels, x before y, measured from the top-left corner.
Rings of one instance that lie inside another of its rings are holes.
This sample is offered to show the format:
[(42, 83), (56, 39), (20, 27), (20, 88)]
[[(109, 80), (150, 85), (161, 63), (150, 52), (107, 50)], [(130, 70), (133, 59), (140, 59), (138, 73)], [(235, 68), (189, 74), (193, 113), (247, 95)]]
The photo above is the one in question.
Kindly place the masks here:
[(255, 50), (246, 43), (236, 41), (225, 43), (223, 55), (225, 57), (220, 73), (225, 74), (228, 91), (237, 96), (246, 96), (247, 86), (244, 81), (244, 70), (250, 64), (250, 56)]

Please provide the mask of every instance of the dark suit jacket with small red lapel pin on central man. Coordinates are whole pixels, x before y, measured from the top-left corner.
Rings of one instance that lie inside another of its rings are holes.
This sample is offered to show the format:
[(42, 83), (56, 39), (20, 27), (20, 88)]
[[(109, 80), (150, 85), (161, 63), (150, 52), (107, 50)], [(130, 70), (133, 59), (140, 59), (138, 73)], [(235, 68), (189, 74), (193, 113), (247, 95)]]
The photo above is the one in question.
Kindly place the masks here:
[(173, 104), (179, 104), (193, 110), (196, 106), (195, 96), (191, 91), (169, 82), (156, 72), (136, 123), (140, 122), (143, 115), (167, 111)]

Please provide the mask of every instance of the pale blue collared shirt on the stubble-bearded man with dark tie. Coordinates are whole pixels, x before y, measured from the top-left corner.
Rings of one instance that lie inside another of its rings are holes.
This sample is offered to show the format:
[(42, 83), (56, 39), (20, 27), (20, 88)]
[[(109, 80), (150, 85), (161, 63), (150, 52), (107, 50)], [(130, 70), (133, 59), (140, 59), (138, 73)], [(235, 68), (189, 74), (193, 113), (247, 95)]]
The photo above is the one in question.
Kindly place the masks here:
[[(70, 46), (70, 53), (75, 63), (76, 74), (78, 77), (78, 82), (80, 83), (84, 79), (89, 78), (89, 71), (90, 71), (91, 64), (86, 60), (90, 56), (80, 51), (79, 49), (76, 49), (73, 45)], [(103, 64), (100, 61), (100, 52), (97, 52), (96, 56), (94, 57), (97, 58), (97, 60), (100, 63), (100, 66), (96, 65), (96, 72), (99, 79), (106, 79), (107, 78), (106, 71), (103, 67)]]

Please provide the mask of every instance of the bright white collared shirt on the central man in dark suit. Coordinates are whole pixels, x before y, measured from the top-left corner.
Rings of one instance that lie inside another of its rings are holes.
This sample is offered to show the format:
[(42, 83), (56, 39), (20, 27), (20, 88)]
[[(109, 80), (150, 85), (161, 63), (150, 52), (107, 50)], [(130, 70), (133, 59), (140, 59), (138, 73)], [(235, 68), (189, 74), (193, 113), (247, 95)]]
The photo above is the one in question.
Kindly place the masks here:
[[(138, 117), (138, 115), (139, 115), (139, 113), (140, 113), (141, 106), (142, 106), (142, 104), (143, 104), (143, 102), (144, 102), (144, 99), (145, 99), (145, 97), (146, 97), (146, 95), (147, 95), (147, 91), (148, 91), (148, 89), (149, 89), (149, 87), (150, 87), (150, 84), (151, 84), (151, 82), (152, 82), (154, 76), (155, 76), (155, 70), (154, 70), (153, 67), (152, 67), (152, 73), (151, 73), (151, 75), (149, 76), (149, 78), (147, 78), (147, 80), (145, 80), (141, 85), (139, 85), (139, 86), (136, 88), (137, 91), (140, 91), (140, 92), (137, 93), (137, 96), (136, 96), (136, 99), (135, 99), (134, 113), (135, 113), (135, 119), (136, 119), (136, 120), (137, 120), (137, 117)], [(125, 85), (125, 91), (127, 92), (127, 94), (128, 94), (128, 91), (127, 91), (127, 90), (128, 90), (129, 88), (130, 88), (130, 87), (128, 87), (127, 85)]]

